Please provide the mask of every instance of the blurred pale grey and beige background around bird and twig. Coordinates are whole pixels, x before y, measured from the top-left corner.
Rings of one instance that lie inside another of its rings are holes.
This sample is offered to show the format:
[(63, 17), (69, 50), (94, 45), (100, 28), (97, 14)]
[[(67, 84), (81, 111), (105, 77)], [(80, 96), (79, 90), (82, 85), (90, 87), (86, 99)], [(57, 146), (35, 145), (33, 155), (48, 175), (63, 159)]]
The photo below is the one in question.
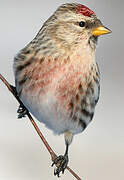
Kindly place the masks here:
[[(13, 57), (66, 0), (4, 0), (0, 3), (0, 73), (12, 84)], [(94, 120), (74, 137), (69, 165), (83, 180), (124, 179), (124, 1), (76, 0), (99, 16), (112, 34), (99, 38), (101, 94)], [(54, 180), (50, 156), (28, 118), (17, 119), (18, 103), (0, 81), (0, 180)], [(37, 122), (38, 123), (38, 122)], [(41, 131), (57, 154), (63, 136)], [(61, 180), (75, 179), (65, 171)]]

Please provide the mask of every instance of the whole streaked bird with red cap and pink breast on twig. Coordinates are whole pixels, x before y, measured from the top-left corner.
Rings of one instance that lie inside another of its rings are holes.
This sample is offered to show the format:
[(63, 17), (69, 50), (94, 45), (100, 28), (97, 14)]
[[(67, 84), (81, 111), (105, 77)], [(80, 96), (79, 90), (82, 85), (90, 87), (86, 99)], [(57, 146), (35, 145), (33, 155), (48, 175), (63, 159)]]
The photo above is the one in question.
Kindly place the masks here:
[[(54, 175), (67, 167), (75, 134), (91, 122), (99, 99), (100, 73), (95, 61), (98, 36), (111, 31), (82, 4), (61, 5), (36, 37), (14, 58), (16, 91), (25, 107), (55, 134), (64, 134), (65, 154)], [(19, 118), (26, 115), (18, 109)]]

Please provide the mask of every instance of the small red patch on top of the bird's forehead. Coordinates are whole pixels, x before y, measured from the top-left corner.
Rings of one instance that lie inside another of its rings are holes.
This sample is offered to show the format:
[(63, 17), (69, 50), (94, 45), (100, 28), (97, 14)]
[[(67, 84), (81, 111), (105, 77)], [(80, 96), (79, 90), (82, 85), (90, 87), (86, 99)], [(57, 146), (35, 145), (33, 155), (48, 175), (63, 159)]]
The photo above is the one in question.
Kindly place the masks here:
[(76, 12), (88, 17), (91, 17), (93, 14), (95, 14), (91, 9), (82, 4), (77, 6)]

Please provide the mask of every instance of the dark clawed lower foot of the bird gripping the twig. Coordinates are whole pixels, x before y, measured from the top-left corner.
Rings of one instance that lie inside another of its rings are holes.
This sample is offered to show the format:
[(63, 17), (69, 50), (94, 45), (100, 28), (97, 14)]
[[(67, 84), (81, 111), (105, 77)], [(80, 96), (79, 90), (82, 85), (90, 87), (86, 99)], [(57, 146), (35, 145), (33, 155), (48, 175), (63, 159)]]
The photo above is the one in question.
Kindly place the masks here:
[(54, 175), (60, 177), (59, 176), (60, 172), (64, 174), (67, 164), (68, 164), (68, 155), (64, 155), (64, 156), (61, 155), (55, 158), (52, 164), (52, 166), (56, 165), (56, 169), (54, 170)]

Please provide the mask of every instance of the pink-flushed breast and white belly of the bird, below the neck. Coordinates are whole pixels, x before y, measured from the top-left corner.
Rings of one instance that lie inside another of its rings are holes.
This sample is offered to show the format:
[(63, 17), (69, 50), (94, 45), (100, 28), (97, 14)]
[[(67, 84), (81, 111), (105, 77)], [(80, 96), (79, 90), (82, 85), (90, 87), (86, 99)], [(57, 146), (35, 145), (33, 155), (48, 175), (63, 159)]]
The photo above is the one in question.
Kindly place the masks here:
[(36, 118), (51, 129), (58, 123), (59, 133), (66, 129), (73, 129), (75, 133), (82, 131), (93, 117), (99, 94), (94, 80), (96, 66), (93, 68), (67, 59), (62, 62), (48, 59), (41, 64), (36, 61), (25, 71), (21, 99)]

